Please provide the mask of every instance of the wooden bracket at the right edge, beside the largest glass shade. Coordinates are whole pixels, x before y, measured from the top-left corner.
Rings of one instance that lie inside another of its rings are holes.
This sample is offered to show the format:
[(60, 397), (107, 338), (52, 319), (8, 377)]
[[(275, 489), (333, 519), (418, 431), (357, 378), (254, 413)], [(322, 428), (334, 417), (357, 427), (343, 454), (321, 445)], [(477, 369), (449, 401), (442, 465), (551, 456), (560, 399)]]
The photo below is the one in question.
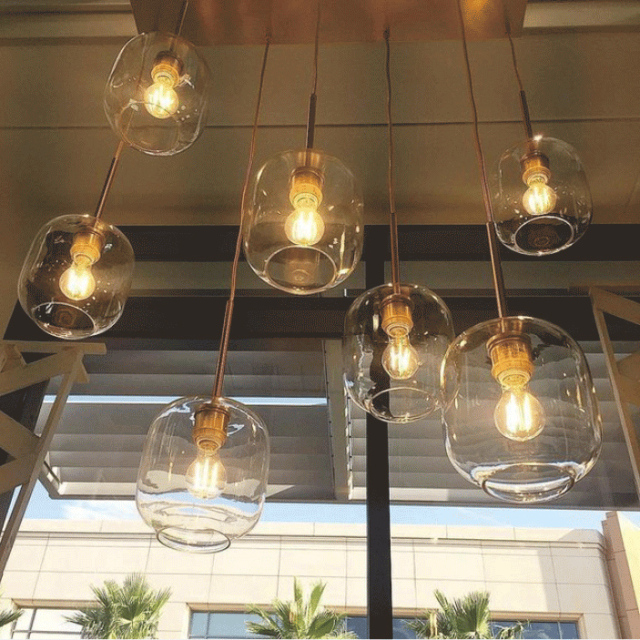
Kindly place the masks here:
[[(640, 407), (640, 351), (618, 360), (604, 317), (604, 314), (608, 313), (616, 318), (640, 325), (640, 304), (604, 289), (592, 288), (589, 290), (589, 295), (591, 296), (602, 351), (607, 363), (607, 371), (611, 378), (613, 397), (616, 401), (622, 431), (631, 458), (636, 491), (640, 496), (640, 439), (627, 406), (628, 403), (631, 403)], [(640, 330), (638, 335), (640, 336)]]

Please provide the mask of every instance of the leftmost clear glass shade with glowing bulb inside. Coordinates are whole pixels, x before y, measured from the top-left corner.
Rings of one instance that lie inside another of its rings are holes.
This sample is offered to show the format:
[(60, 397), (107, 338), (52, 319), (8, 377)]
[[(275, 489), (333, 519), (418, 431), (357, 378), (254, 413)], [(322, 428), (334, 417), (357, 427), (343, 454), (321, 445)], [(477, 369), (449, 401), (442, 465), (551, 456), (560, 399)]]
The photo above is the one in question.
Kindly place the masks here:
[(116, 227), (89, 215), (48, 222), (22, 266), (18, 298), (47, 333), (80, 340), (106, 331), (122, 315), (134, 256)]

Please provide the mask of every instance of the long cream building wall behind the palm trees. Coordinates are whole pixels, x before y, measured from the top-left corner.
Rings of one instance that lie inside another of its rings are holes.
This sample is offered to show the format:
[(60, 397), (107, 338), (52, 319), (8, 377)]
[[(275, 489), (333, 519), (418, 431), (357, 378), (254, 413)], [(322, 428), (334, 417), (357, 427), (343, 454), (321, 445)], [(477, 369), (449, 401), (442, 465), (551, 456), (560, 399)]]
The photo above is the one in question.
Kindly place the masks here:
[[(294, 576), (327, 583), (325, 604), (366, 609), (365, 529), (352, 524), (261, 523), (218, 555), (167, 549), (138, 522), (25, 521), (2, 582), (23, 606), (77, 606), (90, 585), (143, 572), (171, 587), (161, 638), (186, 637), (189, 609), (243, 610), (290, 599)], [(486, 589), (496, 617), (577, 620), (582, 637), (618, 627), (603, 539), (595, 531), (396, 526), (394, 609), (435, 605), (433, 590)]]

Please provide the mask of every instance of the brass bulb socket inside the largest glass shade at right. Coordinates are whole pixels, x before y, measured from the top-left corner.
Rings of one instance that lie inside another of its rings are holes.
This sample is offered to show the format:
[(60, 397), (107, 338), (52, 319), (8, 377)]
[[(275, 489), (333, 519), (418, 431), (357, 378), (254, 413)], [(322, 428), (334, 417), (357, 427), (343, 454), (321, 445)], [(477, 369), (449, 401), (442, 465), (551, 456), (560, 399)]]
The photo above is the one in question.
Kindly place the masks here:
[(487, 343), (491, 375), (503, 387), (524, 387), (535, 370), (531, 341), (522, 334), (500, 334)]

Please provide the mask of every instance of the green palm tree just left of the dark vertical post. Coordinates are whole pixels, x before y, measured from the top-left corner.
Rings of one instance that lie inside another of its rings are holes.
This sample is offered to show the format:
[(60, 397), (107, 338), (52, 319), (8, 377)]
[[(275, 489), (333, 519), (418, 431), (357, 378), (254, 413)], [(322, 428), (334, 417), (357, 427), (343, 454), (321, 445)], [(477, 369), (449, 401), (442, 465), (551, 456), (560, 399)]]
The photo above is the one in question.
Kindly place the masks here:
[(268, 638), (357, 638), (344, 630), (345, 615), (320, 606), (326, 584), (317, 582), (305, 602), (302, 587), (293, 580), (293, 602), (274, 600), (273, 611), (252, 605), (248, 612), (260, 622), (247, 622), (247, 629)]

